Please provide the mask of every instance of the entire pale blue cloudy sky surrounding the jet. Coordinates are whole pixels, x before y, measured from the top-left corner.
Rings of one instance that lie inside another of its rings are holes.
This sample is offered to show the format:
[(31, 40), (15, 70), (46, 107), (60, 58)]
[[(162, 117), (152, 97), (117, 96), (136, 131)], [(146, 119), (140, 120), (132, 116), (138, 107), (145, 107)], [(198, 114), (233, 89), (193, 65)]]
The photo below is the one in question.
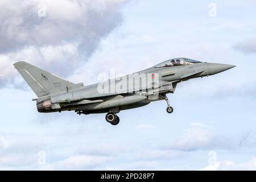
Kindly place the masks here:
[[(0, 0), (0, 169), (255, 170), (256, 1)], [(25, 60), (89, 85), (173, 57), (236, 65), (105, 114), (38, 113)]]

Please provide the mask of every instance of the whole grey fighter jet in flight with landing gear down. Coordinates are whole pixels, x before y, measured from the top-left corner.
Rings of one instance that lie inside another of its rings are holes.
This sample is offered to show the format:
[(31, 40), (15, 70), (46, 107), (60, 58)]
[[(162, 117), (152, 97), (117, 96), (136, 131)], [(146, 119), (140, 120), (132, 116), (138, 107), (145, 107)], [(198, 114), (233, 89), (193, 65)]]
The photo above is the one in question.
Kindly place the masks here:
[(118, 125), (119, 111), (145, 106), (154, 101), (165, 100), (167, 113), (172, 113), (174, 109), (167, 94), (174, 93), (177, 84), (191, 78), (214, 75), (235, 66), (181, 57), (88, 86), (74, 84), (24, 61), (15, 63), (14, 67), (38, 97), (32, 99), (36, 101), (38, 112), (73, 110), (79, 115), (107, 113), (106, 121)]

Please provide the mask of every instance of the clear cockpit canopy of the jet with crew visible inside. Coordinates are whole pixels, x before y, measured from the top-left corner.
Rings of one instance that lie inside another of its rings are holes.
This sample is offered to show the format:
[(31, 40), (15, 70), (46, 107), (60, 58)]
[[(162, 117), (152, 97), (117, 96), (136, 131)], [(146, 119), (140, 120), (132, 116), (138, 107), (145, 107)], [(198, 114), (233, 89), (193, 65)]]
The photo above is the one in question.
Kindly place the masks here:
[(155, 65), (154, 68), (175, 67), (175, 66), (180, 66), (184, 64), (186, 65), (186, 64), (196, 64), (196, 63), (201, 63), (201, 62), (193, 59), (181, 57), (181, 58), (175, 58), (175, 59), (163, 61), (162, 63)]

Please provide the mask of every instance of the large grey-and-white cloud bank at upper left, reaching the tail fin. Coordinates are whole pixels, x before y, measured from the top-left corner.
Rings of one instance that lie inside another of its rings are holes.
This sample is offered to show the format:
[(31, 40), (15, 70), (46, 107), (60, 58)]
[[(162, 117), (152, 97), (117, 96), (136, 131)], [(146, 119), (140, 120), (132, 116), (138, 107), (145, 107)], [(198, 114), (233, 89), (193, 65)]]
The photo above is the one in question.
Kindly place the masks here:
[(125, 2), (43, 0), (46, 16), (40, 17), (36, 0), (1, 1), (0, 86), (18, 75), (12, 64), (20, 60), (71, 75), (122, 22)]

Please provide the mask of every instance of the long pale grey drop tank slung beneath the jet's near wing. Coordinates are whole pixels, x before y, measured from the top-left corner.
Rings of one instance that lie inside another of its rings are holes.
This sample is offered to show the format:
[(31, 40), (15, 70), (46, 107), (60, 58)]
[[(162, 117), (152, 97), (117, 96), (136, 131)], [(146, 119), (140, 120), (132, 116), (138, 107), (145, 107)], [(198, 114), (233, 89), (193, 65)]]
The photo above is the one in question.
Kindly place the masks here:
[(114, 108), (114, 107), (123, 106), (123, 105), (135, 104), (137, 102), (141, 102), (146, 99), (147, 99), (146, 96), (140, 96), (140, 95), (126, 96), (126, 97), (117, 96), (101, 103), (84, 105), (80, 107), (80, 109), (82, 110), (109, 109), (109, 108)]

